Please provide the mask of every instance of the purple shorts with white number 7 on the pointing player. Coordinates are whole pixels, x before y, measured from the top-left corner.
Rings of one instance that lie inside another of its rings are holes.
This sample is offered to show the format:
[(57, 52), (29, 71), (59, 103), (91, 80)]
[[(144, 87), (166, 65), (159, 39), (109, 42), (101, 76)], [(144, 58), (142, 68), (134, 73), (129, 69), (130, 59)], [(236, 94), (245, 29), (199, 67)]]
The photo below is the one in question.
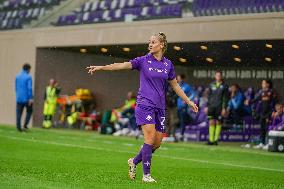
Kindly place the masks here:
[(137, 104), (135, 118), (138, 127), (145, 124), (155, 124), (156, 131), (166, 132), (166, 112), (163, 109)]

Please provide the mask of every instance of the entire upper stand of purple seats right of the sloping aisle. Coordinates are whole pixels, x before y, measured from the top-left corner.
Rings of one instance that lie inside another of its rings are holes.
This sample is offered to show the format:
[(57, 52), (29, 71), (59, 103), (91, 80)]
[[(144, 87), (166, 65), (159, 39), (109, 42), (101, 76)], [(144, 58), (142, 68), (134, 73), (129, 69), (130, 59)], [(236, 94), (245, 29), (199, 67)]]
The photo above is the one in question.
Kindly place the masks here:
[[(90, 0), (67, 15), (61, 15), (57, 26), (148, 19), (195, 17), (232, 14), (281, 12), (281, 0)], [(190, 14), (190, 15), (192, 15)]]

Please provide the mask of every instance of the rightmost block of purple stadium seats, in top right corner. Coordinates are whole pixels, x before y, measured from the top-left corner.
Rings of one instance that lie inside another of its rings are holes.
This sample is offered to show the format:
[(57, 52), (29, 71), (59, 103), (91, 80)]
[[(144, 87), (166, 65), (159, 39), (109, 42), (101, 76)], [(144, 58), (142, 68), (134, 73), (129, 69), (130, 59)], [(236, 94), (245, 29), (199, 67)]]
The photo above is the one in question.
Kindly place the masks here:
[(280, 12), (283, 9), (282, 0), (195, 0), (192, 6), (196, 17)]

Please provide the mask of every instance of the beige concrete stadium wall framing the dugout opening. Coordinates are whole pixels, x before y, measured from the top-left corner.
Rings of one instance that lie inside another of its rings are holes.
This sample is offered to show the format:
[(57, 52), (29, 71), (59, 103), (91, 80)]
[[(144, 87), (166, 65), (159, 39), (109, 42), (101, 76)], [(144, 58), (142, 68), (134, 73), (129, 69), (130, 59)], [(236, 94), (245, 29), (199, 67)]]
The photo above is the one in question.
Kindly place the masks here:
[[(169, 42), (283, 39), (284, 13), (202, 17), (23, 29), (0, 33), (0, 123), (15, 124), (14, 78), (24, 62), (35, 67), (37, 48), (146, 43), (163, 31)], [(109, 62), (113, 59), (109, 58)], [(85, 64), (84, 64), (85, 65)], [(39, 68), (40, 69), (40, 68)], [(46, 82), (43, 83), (46, 85)], [(40, 92), (35, 88), (35, 96)], [(109, 95), (109, 94), (103, 94)], [(39, 98), (40, 99), (40, 98)], [(109, 99), (109, 98), (108, 98)], [(120, 100), (120, 99), (119, 99)], [(40, 102), (35, 102), (40, 103)], [(118, 102), (117, 102), (118, 103)]]

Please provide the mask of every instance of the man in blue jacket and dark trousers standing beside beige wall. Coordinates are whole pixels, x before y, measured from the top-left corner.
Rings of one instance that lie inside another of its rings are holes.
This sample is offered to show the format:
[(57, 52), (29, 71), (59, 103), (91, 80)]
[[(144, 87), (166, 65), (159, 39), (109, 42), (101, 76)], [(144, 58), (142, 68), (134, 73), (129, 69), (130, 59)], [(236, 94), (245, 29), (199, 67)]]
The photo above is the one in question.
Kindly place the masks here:
[(33, 84), (32, 77), (29, 74), (31, 65), (25, 63), (23, 70), (16, 76), (15, 79), (15, 91), (17, 101), (17, 129), (22, 132), (21, 118), (24, 108), (26, 108), (26, 119), (24, 122), (24, 130), (28, 129), (28, 124), (33, 112)]

